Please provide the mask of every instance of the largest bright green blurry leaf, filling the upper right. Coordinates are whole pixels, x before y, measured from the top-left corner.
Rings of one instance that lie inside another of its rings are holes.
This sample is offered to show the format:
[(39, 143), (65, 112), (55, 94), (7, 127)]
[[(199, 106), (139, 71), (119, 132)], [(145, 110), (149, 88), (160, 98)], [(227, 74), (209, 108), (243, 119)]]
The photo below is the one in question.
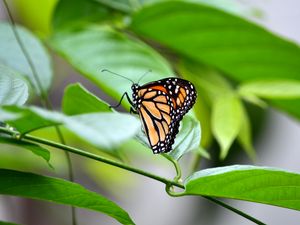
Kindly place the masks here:
[[(262, 77), (300, 80), (298, 45), (209, 6), (178, 1), (153, 4), (136, 12), (130, 29), (239, 82)], [(300, 98), (294, 102), (300, 105)], [(291, 109), (288, 101), (271, 104), (300, 118), (299, 107)]]

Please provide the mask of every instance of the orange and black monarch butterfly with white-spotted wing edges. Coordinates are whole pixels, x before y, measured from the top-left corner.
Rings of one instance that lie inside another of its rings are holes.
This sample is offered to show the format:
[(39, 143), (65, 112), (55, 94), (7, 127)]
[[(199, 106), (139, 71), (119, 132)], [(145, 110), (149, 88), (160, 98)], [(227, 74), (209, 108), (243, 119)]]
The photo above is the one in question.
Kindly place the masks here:
[(125, 92), (120, 102), (113, 107), (118, 107), (126, 96), (131, 104), (130, 112), (140, 116), (153, 153), (171, 151), (179, 131), (180, 121), (195, 104), (197, 98), (195, 86), (177, 77), (169, 77), (141, 86), (133, 81), (132, 83), (132, 100)]

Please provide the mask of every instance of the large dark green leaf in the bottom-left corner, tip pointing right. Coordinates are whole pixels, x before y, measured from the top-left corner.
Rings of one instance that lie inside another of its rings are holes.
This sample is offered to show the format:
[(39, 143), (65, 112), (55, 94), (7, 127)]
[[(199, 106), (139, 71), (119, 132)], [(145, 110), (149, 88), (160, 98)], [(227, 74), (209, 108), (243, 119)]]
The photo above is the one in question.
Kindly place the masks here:
[(95, 210), (122, 224), (134, 224), (129, 215), (114, 202), (63, 179), (0, 169), (0, 194)]

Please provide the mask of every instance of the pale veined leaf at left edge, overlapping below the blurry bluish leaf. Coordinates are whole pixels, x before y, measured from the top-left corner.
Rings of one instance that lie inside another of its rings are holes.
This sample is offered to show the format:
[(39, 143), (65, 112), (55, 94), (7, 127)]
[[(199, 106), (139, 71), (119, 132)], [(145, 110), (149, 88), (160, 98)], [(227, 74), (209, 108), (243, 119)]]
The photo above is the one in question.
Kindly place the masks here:
[(28, 85), (15, 71), (0, 64), (0, 105), (23, 105), (28, 99)]

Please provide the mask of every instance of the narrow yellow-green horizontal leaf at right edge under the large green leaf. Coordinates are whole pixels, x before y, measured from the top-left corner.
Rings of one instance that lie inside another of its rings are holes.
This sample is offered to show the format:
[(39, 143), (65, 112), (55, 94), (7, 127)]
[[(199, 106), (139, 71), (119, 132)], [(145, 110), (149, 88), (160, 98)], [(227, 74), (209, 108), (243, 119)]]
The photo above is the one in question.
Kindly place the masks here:
[(266, 99), (300, 98), (300, 81), (297, 80), (258, 80), (247, 82), (239, 87), (242, 96), (254, 95)]

